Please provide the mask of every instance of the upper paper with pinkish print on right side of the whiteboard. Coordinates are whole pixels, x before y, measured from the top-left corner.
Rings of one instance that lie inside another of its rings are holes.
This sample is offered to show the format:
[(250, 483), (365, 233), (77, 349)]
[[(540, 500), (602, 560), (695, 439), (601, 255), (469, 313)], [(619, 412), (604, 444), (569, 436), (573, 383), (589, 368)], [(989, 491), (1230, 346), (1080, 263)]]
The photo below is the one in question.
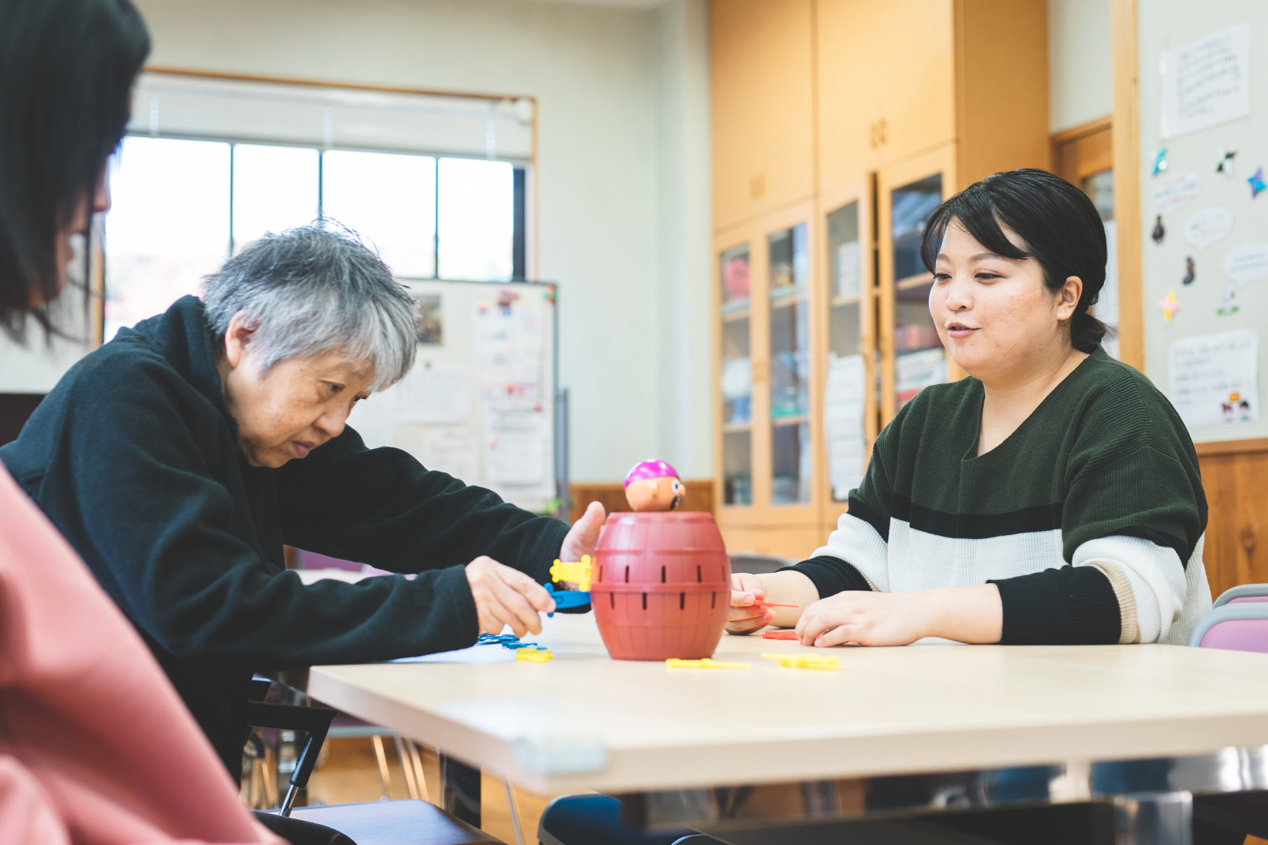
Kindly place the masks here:
[(476, 372), (482, 399), (541, 398), (545, 303), (510, 290), (476, 300)]

